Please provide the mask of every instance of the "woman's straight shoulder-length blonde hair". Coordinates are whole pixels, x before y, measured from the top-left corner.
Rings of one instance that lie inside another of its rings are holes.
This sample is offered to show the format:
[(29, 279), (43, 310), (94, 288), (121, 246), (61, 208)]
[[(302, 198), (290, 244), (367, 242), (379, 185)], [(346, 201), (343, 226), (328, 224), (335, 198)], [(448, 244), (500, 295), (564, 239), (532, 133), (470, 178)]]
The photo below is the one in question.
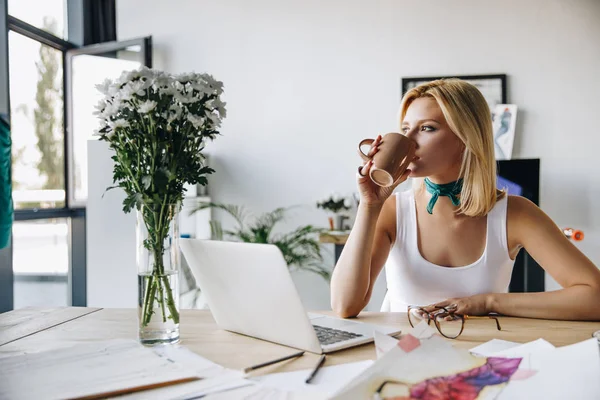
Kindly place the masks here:
[(404, 95), (400, 124), (413, 101), (432, 97), (440, 106), (452, 132), (465, 146), (459, 178), (463, 178), (457, 213), (470, 217), (487, 215), (506, 195), (496, 187), (492, 118), (481, 92), (460, 79), (440, 79), (421, 84)]

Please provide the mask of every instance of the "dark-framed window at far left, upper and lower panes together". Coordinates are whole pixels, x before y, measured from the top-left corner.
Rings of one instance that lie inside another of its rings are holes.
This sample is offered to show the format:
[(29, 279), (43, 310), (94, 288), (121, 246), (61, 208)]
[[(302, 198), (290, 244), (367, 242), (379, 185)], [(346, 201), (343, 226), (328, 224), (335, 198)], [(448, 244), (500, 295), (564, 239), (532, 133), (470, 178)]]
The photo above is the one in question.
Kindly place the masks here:
[(76, 46), (62, 39), (63, 1), (10, 0), (12, 11), (7, 42), (15, 222), (13, 280), (6, 284), (12, 308), (85, 305), (85, 209), (69, 204), (64, 122), (65, 52)]

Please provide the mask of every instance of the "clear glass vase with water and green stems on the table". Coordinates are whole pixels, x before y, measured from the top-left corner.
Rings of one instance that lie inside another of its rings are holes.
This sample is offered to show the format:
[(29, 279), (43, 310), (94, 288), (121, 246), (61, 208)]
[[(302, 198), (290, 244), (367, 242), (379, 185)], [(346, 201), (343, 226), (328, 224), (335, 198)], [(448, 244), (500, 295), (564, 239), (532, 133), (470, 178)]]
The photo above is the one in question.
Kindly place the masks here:
[(139, 338), (144, 345), (179, 342), (179, 204), (137, 211)]

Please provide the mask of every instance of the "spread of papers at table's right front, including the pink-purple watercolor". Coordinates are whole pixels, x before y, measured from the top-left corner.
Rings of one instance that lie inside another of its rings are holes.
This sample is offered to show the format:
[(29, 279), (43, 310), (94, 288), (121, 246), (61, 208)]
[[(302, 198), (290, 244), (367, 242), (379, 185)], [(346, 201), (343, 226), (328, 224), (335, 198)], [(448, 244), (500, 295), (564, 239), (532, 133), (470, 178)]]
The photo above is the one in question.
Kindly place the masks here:
[[(402, 339), (375, 336), (377, 361), (334, 399), (600, 399), (596, 339), (555, 348), (538, 339), (520, 344), (491, 340), (456, 349), (426, 323)], [(440, 397), (441, 396), (441, 397)]]

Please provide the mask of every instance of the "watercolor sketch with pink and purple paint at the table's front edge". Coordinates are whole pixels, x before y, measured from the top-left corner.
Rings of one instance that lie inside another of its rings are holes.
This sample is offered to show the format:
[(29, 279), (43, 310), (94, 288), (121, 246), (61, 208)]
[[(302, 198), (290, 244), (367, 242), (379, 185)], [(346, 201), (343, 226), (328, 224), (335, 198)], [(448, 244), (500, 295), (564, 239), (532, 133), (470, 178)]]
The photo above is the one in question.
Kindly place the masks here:
[(518, 379), (522, 358), (480, 357), (419, 324), (400, 340), (375, 335), (377, 361), (335, 400), (493, 400)]

